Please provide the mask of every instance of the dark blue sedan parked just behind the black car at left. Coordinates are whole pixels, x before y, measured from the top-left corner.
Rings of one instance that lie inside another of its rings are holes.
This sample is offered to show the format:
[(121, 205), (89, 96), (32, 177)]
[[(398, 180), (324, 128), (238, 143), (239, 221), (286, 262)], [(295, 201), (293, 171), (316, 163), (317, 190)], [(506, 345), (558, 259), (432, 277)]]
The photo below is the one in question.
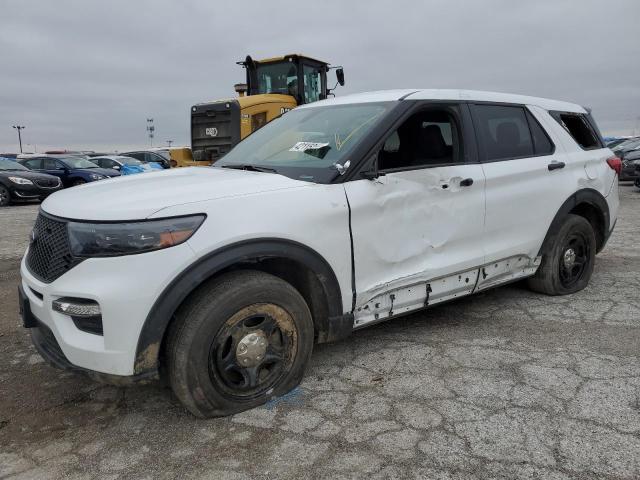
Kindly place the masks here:
[(30, 170), (55, 175), (65, 188), (120, 176), (117, 170), (100, 168), (81, 156), (41, 155), (21, 158), (18, 162)]

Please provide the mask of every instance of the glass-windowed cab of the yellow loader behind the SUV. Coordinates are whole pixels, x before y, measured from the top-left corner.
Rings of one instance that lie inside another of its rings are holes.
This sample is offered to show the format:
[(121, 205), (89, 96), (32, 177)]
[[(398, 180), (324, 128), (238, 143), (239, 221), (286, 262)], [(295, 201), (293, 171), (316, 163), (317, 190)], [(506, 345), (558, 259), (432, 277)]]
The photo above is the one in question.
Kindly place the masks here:
[(327, 98), (326, 62), (303, 55), (238, 62), (246, 69), (247, 95), (280, 94), (293, 97), (297, 105)]

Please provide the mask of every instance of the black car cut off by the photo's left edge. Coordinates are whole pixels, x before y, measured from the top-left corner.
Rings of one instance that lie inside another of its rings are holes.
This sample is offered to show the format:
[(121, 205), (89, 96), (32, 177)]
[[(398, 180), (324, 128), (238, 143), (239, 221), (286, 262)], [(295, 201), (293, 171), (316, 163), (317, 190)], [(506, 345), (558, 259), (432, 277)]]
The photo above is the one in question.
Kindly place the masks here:
[(0, 207), (13, 201), (44, 200), (62, 188), (58, 177), (32, 172), (9, 158), (0, 158)]

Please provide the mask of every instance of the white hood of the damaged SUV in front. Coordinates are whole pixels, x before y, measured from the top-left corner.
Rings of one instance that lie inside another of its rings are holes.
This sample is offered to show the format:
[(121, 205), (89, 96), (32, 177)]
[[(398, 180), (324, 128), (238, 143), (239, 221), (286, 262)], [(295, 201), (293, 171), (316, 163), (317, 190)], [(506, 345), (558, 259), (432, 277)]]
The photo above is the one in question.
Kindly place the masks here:
[(172, 168), (68, 188), (48, 197), (42, 209), (51, 215), (79, 220), (140, 220), (184, 203), (311, 185), (273, 173)]

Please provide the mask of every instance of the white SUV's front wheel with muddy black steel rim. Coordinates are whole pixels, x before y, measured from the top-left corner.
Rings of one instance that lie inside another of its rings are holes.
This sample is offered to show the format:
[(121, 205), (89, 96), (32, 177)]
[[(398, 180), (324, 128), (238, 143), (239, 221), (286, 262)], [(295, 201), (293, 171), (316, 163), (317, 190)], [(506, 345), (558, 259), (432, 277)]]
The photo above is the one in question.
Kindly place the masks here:
[(227, 273), (178, 309), (165, 351), (169, 384), (198, 417), (238, 413), (296, 387), (313, 338), (309, 307), (290, 284), (258, 271)]

